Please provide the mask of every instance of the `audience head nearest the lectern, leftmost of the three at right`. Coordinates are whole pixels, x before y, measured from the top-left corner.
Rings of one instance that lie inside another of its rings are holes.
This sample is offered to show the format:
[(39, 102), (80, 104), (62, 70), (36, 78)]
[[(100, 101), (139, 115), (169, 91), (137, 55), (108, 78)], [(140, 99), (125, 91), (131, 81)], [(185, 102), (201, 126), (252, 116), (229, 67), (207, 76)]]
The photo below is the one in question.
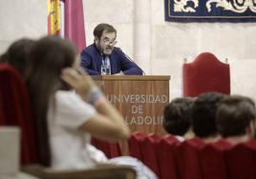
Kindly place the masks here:
[(176, 98), (165, 106), (163, 128), (171, 134), (183, 136), (191, 127), (192, 98)]

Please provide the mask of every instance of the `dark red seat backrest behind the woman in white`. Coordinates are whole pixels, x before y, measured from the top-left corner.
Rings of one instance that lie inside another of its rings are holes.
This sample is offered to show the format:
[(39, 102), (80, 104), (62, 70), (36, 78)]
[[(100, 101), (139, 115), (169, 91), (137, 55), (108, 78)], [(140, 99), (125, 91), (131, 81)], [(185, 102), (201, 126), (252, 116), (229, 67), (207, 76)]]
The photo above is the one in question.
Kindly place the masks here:
[(21, 75), (0, 64), (0, 125), (21, 129), (21, 164), (37, 163), (29, 94)]

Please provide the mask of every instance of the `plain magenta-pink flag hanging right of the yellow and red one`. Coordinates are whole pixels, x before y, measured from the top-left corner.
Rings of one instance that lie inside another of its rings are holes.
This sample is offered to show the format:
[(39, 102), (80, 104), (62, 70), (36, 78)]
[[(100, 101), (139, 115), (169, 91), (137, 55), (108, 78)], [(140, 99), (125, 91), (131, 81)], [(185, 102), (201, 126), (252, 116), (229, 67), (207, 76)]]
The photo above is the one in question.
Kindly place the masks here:
[(73, 41), (79, 52), (85, 48), (82, 0), (65, 0), (65, 38)]

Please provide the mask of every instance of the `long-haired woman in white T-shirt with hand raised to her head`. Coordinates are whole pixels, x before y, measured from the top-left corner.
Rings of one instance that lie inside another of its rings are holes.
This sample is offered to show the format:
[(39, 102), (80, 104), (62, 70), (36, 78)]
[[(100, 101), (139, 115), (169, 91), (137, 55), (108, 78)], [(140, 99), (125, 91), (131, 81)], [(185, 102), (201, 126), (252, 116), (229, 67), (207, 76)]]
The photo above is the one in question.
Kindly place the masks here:
[(79, 59), (75, 46), (56, 36), (41, 38), (32, 47), (27, 84), (41, 164), (54, 169), (123, 164), (134, 167), (140, 178), (155, 179), (156, 175), (137, 159), (108, 160), (91, 145), (91, 135), (117, 142), (126, 140), (130, 130), (91, 76), (79, 71)]

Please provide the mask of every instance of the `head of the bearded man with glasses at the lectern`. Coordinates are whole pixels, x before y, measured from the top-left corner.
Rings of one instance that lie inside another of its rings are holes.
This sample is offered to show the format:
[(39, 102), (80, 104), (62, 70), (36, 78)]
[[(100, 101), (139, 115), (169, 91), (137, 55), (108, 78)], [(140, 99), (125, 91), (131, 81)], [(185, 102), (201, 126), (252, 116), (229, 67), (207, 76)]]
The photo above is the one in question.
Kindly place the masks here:
[(117, 30), (109, 24), (98, 24), (94, 30), (96, 48), (104, 55), (110, 55), (117, 44)]

